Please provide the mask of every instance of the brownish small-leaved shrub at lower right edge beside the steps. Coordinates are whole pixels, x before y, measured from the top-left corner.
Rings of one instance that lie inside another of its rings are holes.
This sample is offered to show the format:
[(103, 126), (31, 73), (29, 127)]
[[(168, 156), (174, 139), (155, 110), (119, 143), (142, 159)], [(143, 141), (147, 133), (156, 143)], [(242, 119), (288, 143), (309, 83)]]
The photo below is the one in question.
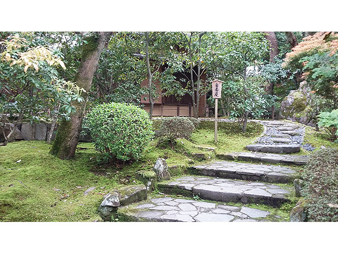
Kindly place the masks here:
[(338, 150), (313, 152), (303, 173), (308, 221), (338, 221)]

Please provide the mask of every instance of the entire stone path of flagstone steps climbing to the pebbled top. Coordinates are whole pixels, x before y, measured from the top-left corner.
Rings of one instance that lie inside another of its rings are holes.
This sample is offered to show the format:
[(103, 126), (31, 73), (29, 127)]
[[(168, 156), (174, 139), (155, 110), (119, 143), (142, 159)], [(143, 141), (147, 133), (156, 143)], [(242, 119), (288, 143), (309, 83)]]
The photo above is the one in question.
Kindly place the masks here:
[(127, 221), (276, 221), (272, 210), (293, 200), (293, 181), (307, 163), (306, 155), (285, 154), (300, 151), (305, 128), (261, 122), (263, 135), (246, 147), (251, 152), (216, 153), (221, 161), (190, 167), (188, 175), (158, 183), (159, 194), (120, 207), (119, 214)]

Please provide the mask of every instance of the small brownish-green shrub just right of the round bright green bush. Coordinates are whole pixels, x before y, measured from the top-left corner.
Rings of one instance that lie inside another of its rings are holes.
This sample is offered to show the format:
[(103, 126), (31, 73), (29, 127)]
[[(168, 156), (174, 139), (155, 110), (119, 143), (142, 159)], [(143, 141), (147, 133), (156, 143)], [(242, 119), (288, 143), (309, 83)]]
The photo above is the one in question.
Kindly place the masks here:
[(191, 119), (170, 117), (162, 119), (158, 136), (160, 137), (160, 142), (169, 139), (173, 143), (176, 138), (190, 139), (194, 130), (195, 125)]

